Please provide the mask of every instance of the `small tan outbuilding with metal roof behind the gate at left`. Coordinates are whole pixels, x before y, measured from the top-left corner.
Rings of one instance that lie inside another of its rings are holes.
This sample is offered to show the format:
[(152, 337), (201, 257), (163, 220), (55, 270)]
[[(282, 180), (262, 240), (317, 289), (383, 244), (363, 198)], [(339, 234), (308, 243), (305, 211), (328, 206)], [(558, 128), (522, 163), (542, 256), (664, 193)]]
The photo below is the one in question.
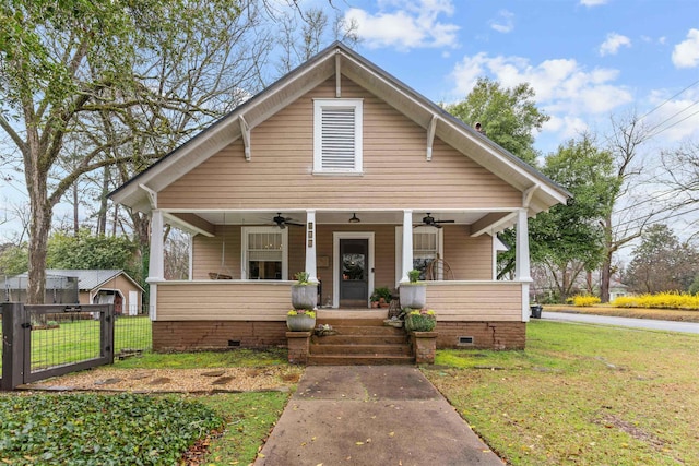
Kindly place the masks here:
[[(5, 299), (26, 298), (26, 273), (5, 283)], [(114, 304), (116, 314), (142, 313), (143, 288), (122, 270), (47, 268), (47, 304)]]

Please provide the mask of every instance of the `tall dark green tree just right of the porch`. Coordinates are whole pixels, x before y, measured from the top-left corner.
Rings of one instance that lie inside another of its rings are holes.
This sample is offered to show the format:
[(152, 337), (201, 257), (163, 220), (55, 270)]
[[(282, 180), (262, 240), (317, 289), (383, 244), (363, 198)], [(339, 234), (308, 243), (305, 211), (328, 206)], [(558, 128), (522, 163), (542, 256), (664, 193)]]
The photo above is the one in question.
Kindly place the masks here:
[(595, 270), (604, 259), (601, 220), (616, 187), (613, 156), (583, 135), (560, 145), (542, 170), (573, 195), (567, 205), (555, 205), (530, 223), (532, 261), (546, 265), (565, 299), (577, 276)]

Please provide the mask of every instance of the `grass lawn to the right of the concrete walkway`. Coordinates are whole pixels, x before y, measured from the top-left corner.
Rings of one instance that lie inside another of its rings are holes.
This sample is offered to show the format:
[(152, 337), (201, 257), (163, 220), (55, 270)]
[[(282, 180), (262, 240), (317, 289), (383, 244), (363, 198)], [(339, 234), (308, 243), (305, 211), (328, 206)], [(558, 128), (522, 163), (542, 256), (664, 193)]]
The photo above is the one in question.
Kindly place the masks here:
[(533, 321), (427, 377), (508, 464), (699, 464), (699, 336)]

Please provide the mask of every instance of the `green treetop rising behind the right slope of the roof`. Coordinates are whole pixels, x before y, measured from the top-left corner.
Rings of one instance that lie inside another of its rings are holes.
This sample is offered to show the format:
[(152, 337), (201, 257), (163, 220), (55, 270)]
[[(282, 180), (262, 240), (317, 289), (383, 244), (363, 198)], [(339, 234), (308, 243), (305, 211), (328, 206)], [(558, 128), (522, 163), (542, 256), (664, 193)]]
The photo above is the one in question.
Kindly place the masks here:
[(529, 84), (502, 88), (481, 77), (463, 101), (445, 109), (466, 124), (479, 122), (490, 140), (530, 165), (536, 164), (534, 133), (550, 117), (536, 108)]

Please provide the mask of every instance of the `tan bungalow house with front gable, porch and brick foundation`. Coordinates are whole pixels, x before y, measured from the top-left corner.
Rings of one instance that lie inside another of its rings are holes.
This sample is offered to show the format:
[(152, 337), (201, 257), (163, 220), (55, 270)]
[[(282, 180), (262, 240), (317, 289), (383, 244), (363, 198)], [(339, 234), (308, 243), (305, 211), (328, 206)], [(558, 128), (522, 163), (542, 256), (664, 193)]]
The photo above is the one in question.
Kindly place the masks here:
[[(528, 218), (569, 193), (335, 43), (110, 196), (152, 216), (155, 350), (286, 345), (295, 273), (321, 282), (318, 319), (362, 319), (415, 267), (438, 347), (522, 348)], [(164, 278), (166, 223), (192, 234), (188, 280)]]

